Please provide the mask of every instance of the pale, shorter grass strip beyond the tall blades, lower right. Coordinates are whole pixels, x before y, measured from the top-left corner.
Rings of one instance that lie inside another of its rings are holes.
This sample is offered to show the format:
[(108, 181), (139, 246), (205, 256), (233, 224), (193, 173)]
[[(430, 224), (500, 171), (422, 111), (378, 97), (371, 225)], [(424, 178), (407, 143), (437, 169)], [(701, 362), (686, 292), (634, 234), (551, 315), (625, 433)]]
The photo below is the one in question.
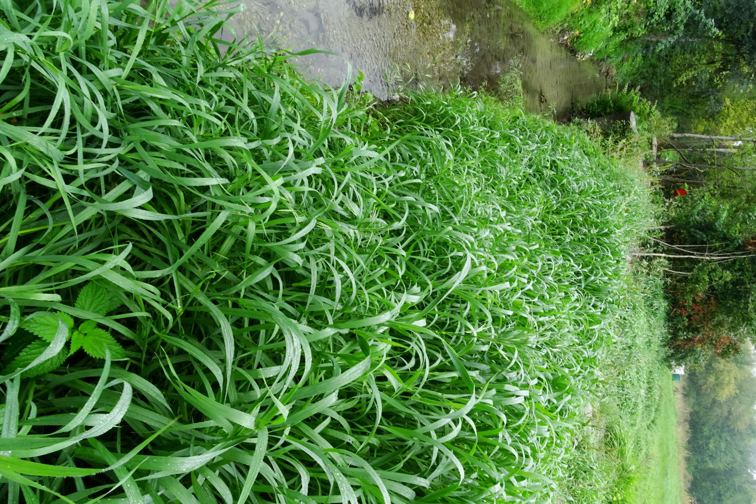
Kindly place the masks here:
[(667, 334), (660, 275), (636, 265), (628, 278), (590, 418), (564, 485), (575, 502), (677, 504), (677, 414), (663, 362)]

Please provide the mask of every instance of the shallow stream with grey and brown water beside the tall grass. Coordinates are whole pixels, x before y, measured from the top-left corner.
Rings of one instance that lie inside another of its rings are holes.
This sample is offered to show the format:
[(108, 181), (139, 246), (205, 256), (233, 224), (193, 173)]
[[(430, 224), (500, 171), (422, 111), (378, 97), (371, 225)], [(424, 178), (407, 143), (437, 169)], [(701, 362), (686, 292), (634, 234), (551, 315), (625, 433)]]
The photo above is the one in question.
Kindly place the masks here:
[[(331, 84), (347, 61), (364, 74), (364, 91), (392, 96), (398, 82), (496, 86), (513, 64), (522, 72), (525, 106), (562, 119), (578, 98), (606, 88), (590, 61), (534, 28), (507, 0), (245, 0), (237, 35), (272, 47), (317, 47), (299, 64)], [(414, 20), (408, 15), (414, 12)]]

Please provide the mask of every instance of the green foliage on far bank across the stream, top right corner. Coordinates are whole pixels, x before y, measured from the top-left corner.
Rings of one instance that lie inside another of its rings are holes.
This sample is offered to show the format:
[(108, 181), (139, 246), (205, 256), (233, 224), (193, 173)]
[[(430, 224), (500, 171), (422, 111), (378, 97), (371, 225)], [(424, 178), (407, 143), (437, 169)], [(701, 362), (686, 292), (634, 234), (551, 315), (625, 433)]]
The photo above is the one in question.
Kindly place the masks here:
[[(554, 1), (519, 3), (547, 11)], [(602, 58), (619, 83), (641, 86), (663, 112), (692, 126), (754, 98), (754, 20), (752, 0), (582, 0), (561, 27), (572, 48)]]

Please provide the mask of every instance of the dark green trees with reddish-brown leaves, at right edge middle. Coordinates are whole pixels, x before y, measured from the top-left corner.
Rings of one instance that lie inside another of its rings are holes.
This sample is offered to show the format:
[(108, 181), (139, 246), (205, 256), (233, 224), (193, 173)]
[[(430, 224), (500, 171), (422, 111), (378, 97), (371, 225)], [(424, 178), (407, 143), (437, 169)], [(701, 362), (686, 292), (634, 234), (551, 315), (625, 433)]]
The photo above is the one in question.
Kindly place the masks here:
[[(678, 160), (674, 172), (665, 170), (668, 195), (677, 194), (663, 241), (671, 263), (671, 357), (732, 356), (756, 334), (756, 171), (727, 167), (756, 167), (754, 148), (670, 145), (660, 155)], [(692, 170), (693, 163), (721, 170)]]

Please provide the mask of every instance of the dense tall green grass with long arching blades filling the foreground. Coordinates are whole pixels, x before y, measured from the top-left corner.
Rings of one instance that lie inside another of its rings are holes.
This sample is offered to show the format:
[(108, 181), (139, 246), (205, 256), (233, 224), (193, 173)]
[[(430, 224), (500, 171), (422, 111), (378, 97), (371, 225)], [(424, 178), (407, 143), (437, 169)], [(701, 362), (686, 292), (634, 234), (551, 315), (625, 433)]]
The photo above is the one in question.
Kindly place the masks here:
[(0, 499), (550, 499), (645, 188), (485, 96), (315, 86), (228, 14), (0, 7)]

